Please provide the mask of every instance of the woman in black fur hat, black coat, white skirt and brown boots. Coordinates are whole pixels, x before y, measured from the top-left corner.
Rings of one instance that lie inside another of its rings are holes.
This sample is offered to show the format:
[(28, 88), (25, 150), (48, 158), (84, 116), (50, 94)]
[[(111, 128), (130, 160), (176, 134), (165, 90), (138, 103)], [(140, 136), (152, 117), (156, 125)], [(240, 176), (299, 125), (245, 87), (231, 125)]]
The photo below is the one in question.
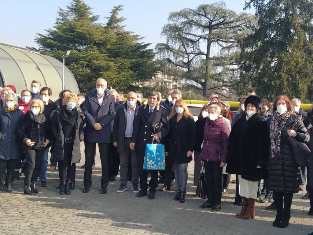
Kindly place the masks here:
[(244, 106), (246, 113), (235, 123), (229, 135), (226, 172), (239, 175), (243, 205), (236, 217), (253, 219), (259, 181), (268, 177), (269, 130), (259, 97), (249, 96)]

